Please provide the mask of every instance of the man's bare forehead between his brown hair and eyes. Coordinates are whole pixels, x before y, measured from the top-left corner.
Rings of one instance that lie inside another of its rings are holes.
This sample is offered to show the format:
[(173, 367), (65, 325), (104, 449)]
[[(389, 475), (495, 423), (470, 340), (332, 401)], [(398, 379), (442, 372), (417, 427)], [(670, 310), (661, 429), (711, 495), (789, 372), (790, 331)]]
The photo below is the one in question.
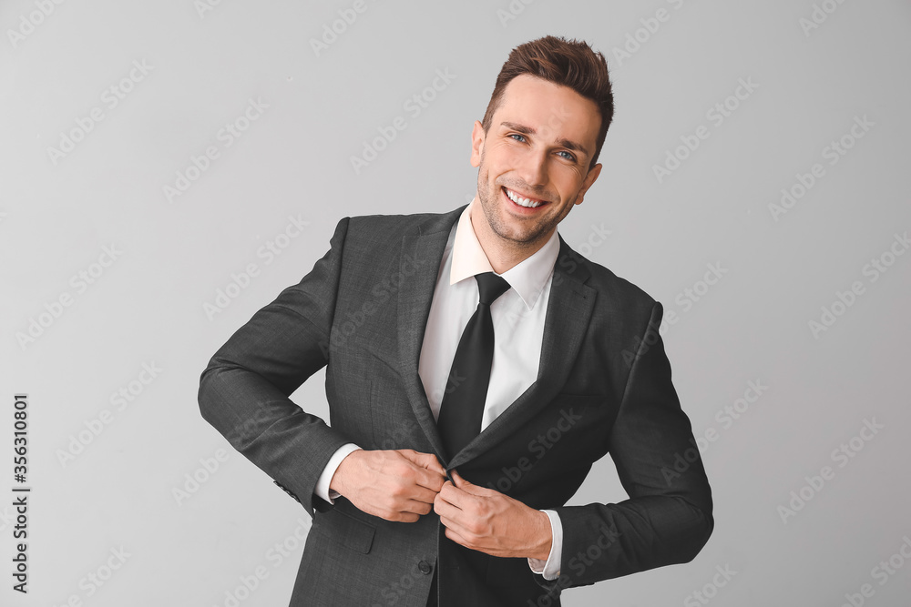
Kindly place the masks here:
[(492, 118), (495, 127), (502, 122), (530, 126), (543, 137), (578, 141), (593, 153), (601, 116), (594, 101), (568, 86), (523, 74), (503, 91)]

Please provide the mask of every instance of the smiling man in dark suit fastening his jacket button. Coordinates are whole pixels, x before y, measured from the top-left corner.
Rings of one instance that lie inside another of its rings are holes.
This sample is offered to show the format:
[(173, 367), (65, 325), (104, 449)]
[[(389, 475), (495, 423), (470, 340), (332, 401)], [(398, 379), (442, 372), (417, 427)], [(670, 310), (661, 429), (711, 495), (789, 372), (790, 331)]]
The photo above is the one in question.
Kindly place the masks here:
[[(292, 606), (559, 605), (708, 540), (660, 303), (557, 232), (612, 115), (601, 54), (518, 46), (472, 132), (475, 199), (344, 218), (211, 359), (203, 416), (313, 517)], [(326, 365), (329, 425), (288, 398)], [(564, 506), (608, 452), (630, 499)]]

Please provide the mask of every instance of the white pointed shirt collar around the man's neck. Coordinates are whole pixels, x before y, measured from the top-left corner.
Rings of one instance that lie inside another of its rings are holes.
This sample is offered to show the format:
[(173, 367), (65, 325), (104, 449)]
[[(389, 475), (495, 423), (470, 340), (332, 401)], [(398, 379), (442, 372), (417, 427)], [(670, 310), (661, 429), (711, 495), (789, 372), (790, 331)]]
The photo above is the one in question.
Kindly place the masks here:
[[(449, 271), (449, 284), (455, 285), (460, 280), (472, 278), (481, 272), (493, 272), (490, 261), (477, 241), (475, 228), (471, 224), (471, 208), (476, 204), (475, 197), (462, 211), (455, 227), (455, 244), (453, 245), (453, 262)], [(479, 203), (478, 203), (479, 204)], [(540, 297), (544, 285), (554, 272), (554, 264), (560, 251), (560, 242), (557, 230), (548, 239), (543, 247), (537, 249), (535, 254), (523, 259), (506, 272), (500, 274), (509, 283), (525, 302), (527, 309), (535, 308), (537, 298)], [(496, 272), (495, 272), (496, 274)]]

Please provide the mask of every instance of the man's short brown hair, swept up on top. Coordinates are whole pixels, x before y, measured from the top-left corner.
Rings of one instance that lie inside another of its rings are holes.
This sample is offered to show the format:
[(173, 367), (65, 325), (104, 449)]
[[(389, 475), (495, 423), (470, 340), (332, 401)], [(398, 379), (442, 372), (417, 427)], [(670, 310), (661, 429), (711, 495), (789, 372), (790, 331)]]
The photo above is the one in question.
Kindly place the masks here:
[(490, 129), (490, 121), (500, 106), (507, 85), (513, 78), (523, 74), (568, 86), (595, 102), (601, 115), (601, 127), (595, 140), (595, 155), (589, 161), (589, 168), (594, 167), (614, 117), (614, 96), (610, 88), (608, 62), (604, 56), (593, 50), (587, 42), (553, 35), (517, 46), (509, 53), (509, 58), (496, 76), (496, 86), (481, 122), (485, 133)]

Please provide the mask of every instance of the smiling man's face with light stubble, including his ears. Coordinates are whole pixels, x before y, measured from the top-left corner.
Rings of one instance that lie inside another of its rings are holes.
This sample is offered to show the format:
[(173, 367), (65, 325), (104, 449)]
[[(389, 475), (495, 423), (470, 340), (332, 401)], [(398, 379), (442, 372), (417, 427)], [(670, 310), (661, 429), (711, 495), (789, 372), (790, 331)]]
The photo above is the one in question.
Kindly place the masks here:
[(589, 169), (600, 124), (598, 106), (567, 86), (528, 75), (510, 81), (489, 132), (480, 122), (472, 131), (486, 218), (472, 224), (482, 244), (534, 252), (547, 242), (600, 173), (601, 165)]

